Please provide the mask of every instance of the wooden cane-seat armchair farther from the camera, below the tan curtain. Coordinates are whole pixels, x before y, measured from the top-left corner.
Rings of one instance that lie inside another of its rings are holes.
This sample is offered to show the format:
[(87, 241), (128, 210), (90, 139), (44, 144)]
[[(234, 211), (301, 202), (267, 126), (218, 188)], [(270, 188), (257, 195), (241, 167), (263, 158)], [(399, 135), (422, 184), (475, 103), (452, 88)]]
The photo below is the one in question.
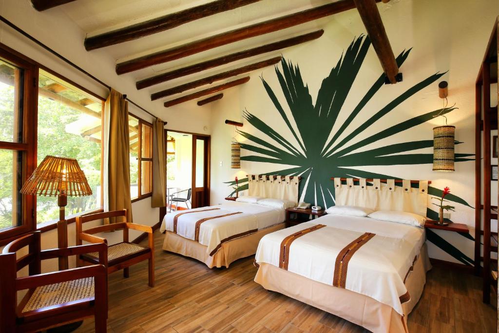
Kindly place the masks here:
[[(94, 234), (123, 230), (123, 242), (107, 247), (107, 258), (104, 263), (107, 273), (110, 274), (123, 270), (123, 276), (128, 278), (128, 268), (147, 259), (149, 260), (149, 286), (154, 287), (154, 234), (151, 227), (135, 223), (118, 222), (82, 230), (83, 223), (119, 216), (123, 216), (123, 219), (126, 221), (126, 209), (78, 216), (76, 218), (76, 245), (81, 245), (82, 241), (89, 243), (104, 243), (107, 245), (107, 240), (105, 238), (95, 236)], [(148, 233), (149, 246), (143, 247), (138, 244), (130, 243), (128, 241), (129, 229)], [(97, 261), (98, 258), (96, 254), (84, 254), (77, 259), (77, 265), (82, 266), (83, 262), (95, 264)]]

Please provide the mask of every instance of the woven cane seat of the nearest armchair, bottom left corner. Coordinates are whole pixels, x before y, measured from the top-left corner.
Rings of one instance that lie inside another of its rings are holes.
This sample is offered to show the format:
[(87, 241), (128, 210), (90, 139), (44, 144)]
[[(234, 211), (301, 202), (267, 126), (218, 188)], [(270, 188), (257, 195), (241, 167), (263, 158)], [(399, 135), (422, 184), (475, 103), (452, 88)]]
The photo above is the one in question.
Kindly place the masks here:
[(94, 290), (93, 277), (37, 287), (22, 312), (93, 298)]

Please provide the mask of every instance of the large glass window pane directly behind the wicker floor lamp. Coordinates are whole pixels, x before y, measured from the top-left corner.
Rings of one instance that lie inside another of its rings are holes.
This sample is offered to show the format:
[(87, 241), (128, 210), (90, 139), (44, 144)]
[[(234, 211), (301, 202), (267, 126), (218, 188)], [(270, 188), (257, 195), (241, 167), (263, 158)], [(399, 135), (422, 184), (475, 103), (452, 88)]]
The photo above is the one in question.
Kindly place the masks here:
[[(46, 155), (75, 158), (85, 173), (92, 195), (68, 197), (66, 216), (100, 208), (102, 101), (42, 70), (38, 82), (38, 163)], [(58, 217), (56, 197), (36, 198), (37, 223)]]

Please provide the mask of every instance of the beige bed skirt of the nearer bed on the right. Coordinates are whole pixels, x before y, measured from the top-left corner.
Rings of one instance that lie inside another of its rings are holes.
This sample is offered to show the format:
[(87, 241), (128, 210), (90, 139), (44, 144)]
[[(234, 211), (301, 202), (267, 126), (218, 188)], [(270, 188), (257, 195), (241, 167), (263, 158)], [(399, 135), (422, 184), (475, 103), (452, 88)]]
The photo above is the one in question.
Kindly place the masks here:
[(404, 316), (388, 305), (346, 289), (309, 280), (270, 264), (260, 264), (254, 281), (263, 288), (309, 304), (374, 333), (408, 333), (407, 316), (418, 303), (431, 269), (426, 244), (405, 285), (411, 300), (402, 305)]

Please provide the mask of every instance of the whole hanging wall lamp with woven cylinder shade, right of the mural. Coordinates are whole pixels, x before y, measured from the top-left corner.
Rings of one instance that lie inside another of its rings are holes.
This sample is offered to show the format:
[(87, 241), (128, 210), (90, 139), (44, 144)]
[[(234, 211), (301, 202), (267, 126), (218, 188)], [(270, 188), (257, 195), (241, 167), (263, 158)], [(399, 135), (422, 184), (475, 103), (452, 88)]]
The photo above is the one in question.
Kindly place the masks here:
[(442, 111), (434, 117), (444, 117), (445, 125), (433, 128), (433, 171), (454, 171), (454, 137), (456, 126), (447, 125), (447, 117), (442, 113), (447, 108), (448, 83), (438, 85), (439, 97), (445, 99)]

